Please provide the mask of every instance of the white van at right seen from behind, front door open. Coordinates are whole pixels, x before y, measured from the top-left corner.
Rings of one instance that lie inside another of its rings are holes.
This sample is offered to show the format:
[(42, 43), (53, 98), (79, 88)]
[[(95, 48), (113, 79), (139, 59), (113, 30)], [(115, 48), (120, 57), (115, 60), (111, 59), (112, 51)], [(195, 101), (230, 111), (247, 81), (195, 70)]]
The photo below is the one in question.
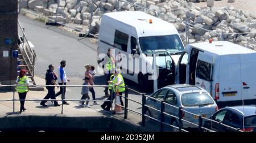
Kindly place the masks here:
[(256, 103), (256, 52), (227, 41), (185, 47), (176, 66), (176, 83), (206, 89), (218, 106)]

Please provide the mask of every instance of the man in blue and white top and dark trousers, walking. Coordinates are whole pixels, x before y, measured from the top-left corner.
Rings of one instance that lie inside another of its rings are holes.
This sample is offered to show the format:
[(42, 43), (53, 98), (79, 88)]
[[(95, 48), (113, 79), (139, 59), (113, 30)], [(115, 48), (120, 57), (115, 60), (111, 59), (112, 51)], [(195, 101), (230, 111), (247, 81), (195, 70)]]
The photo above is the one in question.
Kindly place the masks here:
[[(61, 60), (60, 67), (58, 68), (58, 78), (57, 78), (57, 81), (58, 81), (59, 85), (67, 85), (67, 81), (70, 81), (67, 78), (64, 67), (66, 67), (66, 61)], [(61, 86), (60, 91), (55, 94), (55, 97), (57, 97), (61, 94), (61, 98), (65, 99), (65, 93), (66, 93), (66, 86)], [(66, 102), (66, 101), (64, 101), (63, 104), (69, 105), (69, 103)]]

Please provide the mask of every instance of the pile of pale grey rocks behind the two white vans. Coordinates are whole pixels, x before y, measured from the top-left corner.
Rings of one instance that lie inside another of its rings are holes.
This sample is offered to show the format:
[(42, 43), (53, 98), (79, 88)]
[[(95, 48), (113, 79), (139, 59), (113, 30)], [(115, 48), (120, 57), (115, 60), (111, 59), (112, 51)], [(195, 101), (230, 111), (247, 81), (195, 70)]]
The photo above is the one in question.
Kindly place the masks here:
[(234, 7), (215, 9), (213, 0), (207, 1), (207, 7), (196, 7), (193, 3), (196, 0), (126, 0), (127, 2), (120, 0), (119, 5), (117, 5), (117, 0), (94, 0), (93, 3), (92, 1), (21, 0), (20, 5), (23, 8), (41, 11), (52, 20), (55, 20), (57, 13), (57, 21), (81, 24), (86, 27), (89, 25), (92, 13), (92, 33), (98, 32), (101, 16), (106, 12), (143, 11), (142, 7), (148, 7), (149, 14), (156, 16), (157, 13), (159, 18), (174, 23), (183, 41), (185, 41), (186, 27), (183, 21), (188, 21), (195, 25), (195, 27), (191, 25), (188, 27), (189, 42), (206, 41), (211, 37), (213, 40), (227, 40), (251, 49), (256, 48), (255, 33), (236, 34), (256, 32), (256, 14), (249, 14)]

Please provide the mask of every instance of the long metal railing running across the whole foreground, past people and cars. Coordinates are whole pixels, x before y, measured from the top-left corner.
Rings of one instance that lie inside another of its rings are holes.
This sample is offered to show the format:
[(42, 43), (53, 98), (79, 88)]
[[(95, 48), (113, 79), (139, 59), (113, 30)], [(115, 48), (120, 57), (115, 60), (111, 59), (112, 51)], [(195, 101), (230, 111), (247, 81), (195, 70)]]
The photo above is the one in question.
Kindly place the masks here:
[[(113, 89), (115, 89), (117, 87), (117, 85), (114, 85), (114, 86), (109, 86), (109, 85), (0, 85), (0, 88), (1, 87), (6, 87), (6, 86), (13, 87), (13, 88), (16, 87), (16, 86), (28, 86), (28, 87), (35, 87), (35, 86), (38, 86), (38, 87), (51, 87), (51, 86), (56, 87), (57, 86), (57, 87), (60, 87), (60, 88), (61, 87), (76, 87), (76, 88), (79, 88), (79, 87), (87, 86), (87, 87), (96, 87), (96, 88), (97, 87), (112, 87)], [(122, 86), (119, 86), (119, 87), (122, 87)], [(176, 129), (177, 131), (187, 132), (187, 130), (185, 130), (183, 128), (183, 122), (186, 122), (190, 125), (196, 126), (198, 128), (198, 131), (214, 132), (212, 129), (204, 127), (203, 120), (207, 120), (208, 122), (218, 124), (218, 131), (221, 131), (221, 127), (228, 128), (231, 131), (237, 131), (237, 132), (242, 131), (239, 128), (230, 127), (229, 125), (223, 124), (222, 122), (217, 122), (216, 120), (205, 118), (202, 115), (193, 114), (192, 112), (184, 110), (182, 107), (176, 107), (176, 106), (171, 105), (171, 104), (169, 104), (169, 103), (167, 103), (163, 100), (156, 99), (156, 98), (151, 97), (151, 96), (147, 96), (145, 93), (140, 93), (140, 92), (137, 92), (134, 89), (128, 88), (128, 86), (125, 86), (125, 87), (122, 87), (122, 88), (125, 88), (125, 96), (123, 97), (123, 96), (115, 95), (115, 98), (117, 98), (117, 97), (124, 98), (125, 99), (124, 106), (119, 105), (118, 103), (115, 103), (115, 106), (121, 106), (121, 107), (124, 108), (124, 119), (128, 118), (128, 111), (131, 111), (131, 112), (134, 112), (135, 114), (140, 115), (142, 117), (141, 118), (141, 125), (142, 126), (146, 125), (146, 118), (149, 118), (151, 120), (154, 120), (155, 122), (160, 123), (160, 131), (163, 131), (164, 125), (166, 125), (167, 127), (171, 127), (173, 129)], [(98, 100), (98, 99), (95, 99), (95, 100), (91, 100), (91, 99), (64, 99), (64, 97), (63, 97), (64, 90), (62, 90), (62, 91), (63, 91), (63, 93), (61, 94), (61, 99), (15, 99), (15, 90), (14, 90), (13, 91), (13, 99), (0, 100), (0, 102), (13, 101), (13, 112), (15, 112), (15, 101), (61, 101), (62, 102), (62, 104), (61, 104), (61, 114), (63, 114), (63, 107), (64, 107), (63, 103), (65, 101), (93, 101), (93, 102), (95, 102), (95, 101), (101, 101), (101, 102), (108, 101), (108, 102), (111, 102), (111, 103), (113, 102), (113, 99), (110, 99), (110, 100), (108, 100), (108, 99), (105, 99), (105, 100), (102, 100), (102, 99), (101, 100)], [(132, 92), (135, 92), (135, 93), (141, 95), (142, 96), (142, 103), (138, 102), (138, 101), (135, 101), (134, 99), (129, 98), (129, 91), (132, 91)], [(112, 95), (110, 95), (110, 96), (112, 96)], [(152, 99), (156, 102), (159, 102), (160, 103), (160, 109), (155, 109), (154, 107), (151, 107), (150, 105), (147, 105), (146, 97), (150, 98), (150, 99)], [(128, 106), (129, 101), (135, 102), (135, 103), (138, 103), (139, 105), (141, 105), (142, 106), (142, 112), (138, 112), (138, 111), (135, 111), (135, 110), (129, 108), (129, 106)], [(172, 107), (173, 109), (178, 110), (178, 115), (172, 115), (172, 114), (168, 113), (168, 111), (165, 110), (166, 107)], [(113, 107), (111, 105), (111, 110), (112, 109), (113, 109)], [(147, 115), (146, 111), (148, 109), (152, 109), (152, 110), (155, 110), (157, 112), (160, 112), (160, 120), (156, 119), (156, 118), (153, 118), (152, 116)], [(183, 117), (184, 114), (185, 115), (197, 116), (198, 124), (192, 123), (189, 120), (185, 120), (184, 117)], [(170, 123), (167, 123), (165, 121), (166, 116), (168, 118), (172, 118), (172, 119), (177, 120), (178, 121), (177, 126), (172, 125)]]

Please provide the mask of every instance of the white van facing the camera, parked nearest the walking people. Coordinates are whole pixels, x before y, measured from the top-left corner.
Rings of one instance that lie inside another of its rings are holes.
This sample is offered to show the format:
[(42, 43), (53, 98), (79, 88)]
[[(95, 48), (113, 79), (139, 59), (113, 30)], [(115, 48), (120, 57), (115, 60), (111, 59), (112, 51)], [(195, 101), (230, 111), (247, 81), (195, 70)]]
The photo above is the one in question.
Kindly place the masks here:
[[(98, 55), (106, 54), (109, 48), (114, 48), (115, 55), (122, 53), (129, 57), (129, 54), (139, 54), (139, 57), (143, 60), (141, 63), (151, 65), (152, 56), (149, 56), (150, 54), (153, 54), (155, 50), (167, 50), (168, 54), (164, 53), (158, 58), (158, 61), (160, 61), (158, 66), (164, 69), (163, 73), (159, 72), (159, 75), (170, 75), (169, 73), (175, 73), (175, 64), (179, 60), (184, 46), (177, 29), (171, 23), (142, 11), (122, 11), (111, 12), (102, 16), (98, 38)], [(134, 64), (134, 58), (127, 60), (127, 64)], [(99, 59), (98, 63), (101, 61), (102, 59)], [(167, 63), (171, 63), (171, 70), (166, 70)], [(127, 71), (127, 74), (123, 74), (123, 77), (139, 84), (144, 91), (149, 89), (148, 84), (152, 82), (147, 80), (148, 73), (142, 72), (141, 67), (139, 73), (134, 73), (135, 67), (128, 67), (129, 69), (122, 69)], [(166, 76), (163, 76), (163, 78), (166, 78)], [(164, 83), (162, 86), (173, 84), (175, 81), (174, 74), (168, 79), (164, 80), (168, 83)]]

